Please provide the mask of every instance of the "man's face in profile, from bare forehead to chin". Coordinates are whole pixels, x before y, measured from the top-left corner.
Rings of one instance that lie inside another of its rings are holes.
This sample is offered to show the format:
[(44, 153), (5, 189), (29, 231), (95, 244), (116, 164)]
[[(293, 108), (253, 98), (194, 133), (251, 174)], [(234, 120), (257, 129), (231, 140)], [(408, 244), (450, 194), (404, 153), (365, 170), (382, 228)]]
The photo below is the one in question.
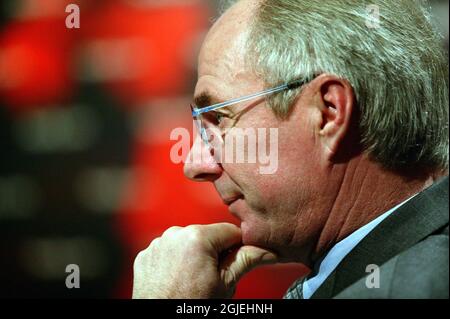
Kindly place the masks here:
[[(238, 3), (216, 23), (202, 47), (195, 96), (203, 96), (209, 105), (264, 89), (263, 81), (244, 61), (246, 25), (254, 9), (246, 3)], [(244, 109), (236, 128), (278, 130), (277, 170), (261, 174), (258, 163), (217, 163), (197, 137), (190, 156), (202, 152), (207, 160), (187, 163), (185, 174), (214, 184), (241, 221), (243, 244), (272, 249), (285, 261), (305, 262), (325, 222), (320, 214), (323, 208), (317, 205), (325, 177), (311, 124), (320, 112), (313, 107), (295, 108), (288, 119), (281, 120), (264, 99), (232, 106), (227, 112), (233, 116)]]

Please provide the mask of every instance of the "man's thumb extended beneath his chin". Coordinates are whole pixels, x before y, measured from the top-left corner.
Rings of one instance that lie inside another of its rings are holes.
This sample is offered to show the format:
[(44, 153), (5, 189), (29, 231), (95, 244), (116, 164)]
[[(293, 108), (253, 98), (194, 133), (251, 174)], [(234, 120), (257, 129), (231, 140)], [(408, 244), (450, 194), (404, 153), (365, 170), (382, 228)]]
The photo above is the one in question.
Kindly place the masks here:
[(232, 287), (253, 268), (276, 262), (277, 256), (269, 250), (256, 246), (241, 246), (220, 264), (221, 278), (226, 287)]

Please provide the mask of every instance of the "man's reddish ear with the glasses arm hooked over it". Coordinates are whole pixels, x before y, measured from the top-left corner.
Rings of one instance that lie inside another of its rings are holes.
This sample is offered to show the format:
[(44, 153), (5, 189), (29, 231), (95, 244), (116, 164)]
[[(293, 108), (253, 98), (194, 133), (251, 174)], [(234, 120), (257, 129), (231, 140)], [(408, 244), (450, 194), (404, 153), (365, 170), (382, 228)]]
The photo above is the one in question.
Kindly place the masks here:
[(323, 75), (320, 87), (319, 107), (322, 123), (319, 135), (329, 158), (336, 155), (344, 138), (351, 134), (351, 122), (355, 109), (355, 95), (351, 84), (334, 75)]

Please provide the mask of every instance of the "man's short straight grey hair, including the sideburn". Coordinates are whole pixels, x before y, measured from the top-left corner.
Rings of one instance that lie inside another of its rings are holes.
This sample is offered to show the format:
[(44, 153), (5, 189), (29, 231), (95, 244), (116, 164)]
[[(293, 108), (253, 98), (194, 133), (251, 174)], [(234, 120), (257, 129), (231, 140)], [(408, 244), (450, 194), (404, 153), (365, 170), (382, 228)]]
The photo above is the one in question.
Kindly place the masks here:
[[(237, 1), (226, 2), (223, 8)], [(268, 87), (320, 73), (348, 80), (372, 159), (388, 169), (447, 170), (448, 60), (425, 4), (261, 0), (247, 58)], [(281, 93), (269, 104), (287, 116), (297, 95)]]

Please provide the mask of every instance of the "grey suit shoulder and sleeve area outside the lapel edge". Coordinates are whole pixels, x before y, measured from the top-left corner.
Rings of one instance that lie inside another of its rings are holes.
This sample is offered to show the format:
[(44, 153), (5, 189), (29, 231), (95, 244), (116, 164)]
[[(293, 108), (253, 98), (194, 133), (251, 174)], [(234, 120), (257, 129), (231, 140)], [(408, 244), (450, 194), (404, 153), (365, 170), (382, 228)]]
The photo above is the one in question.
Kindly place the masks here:
[(448, 298), (448, 244), (447, 225), (383, 265), (374, 265), (336, 298)]

